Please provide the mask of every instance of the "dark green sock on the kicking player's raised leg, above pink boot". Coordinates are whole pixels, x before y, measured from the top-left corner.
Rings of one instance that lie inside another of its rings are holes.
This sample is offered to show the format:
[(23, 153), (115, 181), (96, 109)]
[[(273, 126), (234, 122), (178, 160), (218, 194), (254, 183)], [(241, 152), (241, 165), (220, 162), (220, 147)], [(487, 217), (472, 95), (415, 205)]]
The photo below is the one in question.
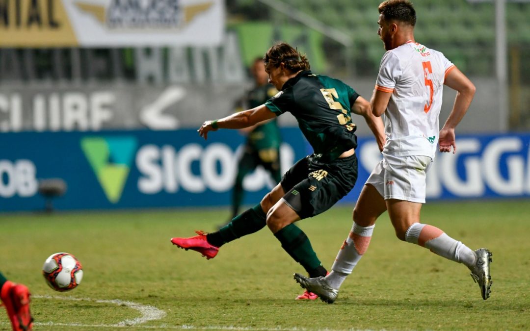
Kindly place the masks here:
[(219, 231), (206, 236), (208, 243), (220, 247), (237, 238), (253, 234), (267, 225), (267, 214), (260, 204), (251, 209), (245, 210), (241, 215), (236, 216), (231, 222)]

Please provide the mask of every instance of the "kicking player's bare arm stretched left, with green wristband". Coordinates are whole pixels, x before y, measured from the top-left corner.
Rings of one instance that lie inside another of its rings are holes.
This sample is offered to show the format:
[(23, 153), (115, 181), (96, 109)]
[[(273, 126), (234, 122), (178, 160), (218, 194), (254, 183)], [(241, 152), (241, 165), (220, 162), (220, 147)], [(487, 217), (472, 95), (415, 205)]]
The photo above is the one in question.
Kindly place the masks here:
[(217, 131), (218, 129), (243, 129), (275, 117), (276, 114), (262, 104), (256, 108), (234, 113), (219, 120), (205, 121), (197, 132), (204, 139), (208, 139), (208, 132), (210, 131)]

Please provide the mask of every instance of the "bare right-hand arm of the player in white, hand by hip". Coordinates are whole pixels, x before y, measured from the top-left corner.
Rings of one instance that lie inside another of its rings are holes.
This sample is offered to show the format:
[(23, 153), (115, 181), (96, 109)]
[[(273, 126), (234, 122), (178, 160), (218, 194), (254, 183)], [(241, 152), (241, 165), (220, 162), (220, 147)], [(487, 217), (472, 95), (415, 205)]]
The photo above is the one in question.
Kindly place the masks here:
[(440, 151), (442, 153), (448, 153), (453, 149), (453, 154), (456, 153), (456, 141), (455, 141), (455, 128), (464, 118), (473, 96), (475, 95), (475, 85), (471, 83), (471, 80), (467, 78), (462, 71), (458, 68), (454, 68), (445, 77), (445, 85), (456, 90), (455, 103), (453, 110), (449, 113), (447, 121), (445, 121), (444, 127), (440, 130), (440, 139), (438, 144), (440, 145)]

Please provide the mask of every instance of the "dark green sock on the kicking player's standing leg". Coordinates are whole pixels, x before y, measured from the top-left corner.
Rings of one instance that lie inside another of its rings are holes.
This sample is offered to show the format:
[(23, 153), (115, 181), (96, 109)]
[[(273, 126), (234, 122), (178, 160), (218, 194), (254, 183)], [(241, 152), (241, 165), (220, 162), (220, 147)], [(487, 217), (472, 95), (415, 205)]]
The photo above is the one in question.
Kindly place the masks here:
[(296, 262), (302, 264), (310, 277), (325, 276), (326, 270), (316, 257), (309, 238), (304, 231), (294, 224), (289, 224), (285, 228), (276, 232), (275, 237), (280, 240), (281, 247), (292, 257)]

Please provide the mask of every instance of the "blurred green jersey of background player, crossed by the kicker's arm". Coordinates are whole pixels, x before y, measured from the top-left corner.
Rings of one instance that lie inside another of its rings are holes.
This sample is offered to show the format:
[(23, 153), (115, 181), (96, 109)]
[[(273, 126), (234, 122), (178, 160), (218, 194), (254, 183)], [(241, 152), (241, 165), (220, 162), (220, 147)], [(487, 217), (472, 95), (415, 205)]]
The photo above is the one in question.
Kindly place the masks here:
[[(243, 109), (252, 109), (264, 104), (269, 98), (278, 91), (272, 85), (266, 84), (257, 86), (246, 94)], [(249, 133), (247, 143), (255, 149), (279, 148), (281, 143), (280, 129), (278, 120), (273, 119), (267, 123), (258, 125)]]

